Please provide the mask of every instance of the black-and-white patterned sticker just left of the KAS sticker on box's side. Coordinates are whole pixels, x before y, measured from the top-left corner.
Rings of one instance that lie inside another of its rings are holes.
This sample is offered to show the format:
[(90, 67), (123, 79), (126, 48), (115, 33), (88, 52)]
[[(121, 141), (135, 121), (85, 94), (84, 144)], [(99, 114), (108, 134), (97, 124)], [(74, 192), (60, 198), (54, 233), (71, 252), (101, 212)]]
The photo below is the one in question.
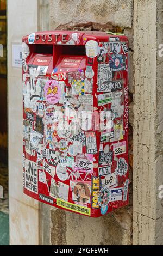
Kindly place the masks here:
[(112, 69), (109, 64), (98, 64), (97, 92), (107, 92), (109, 81), (112, 80)]

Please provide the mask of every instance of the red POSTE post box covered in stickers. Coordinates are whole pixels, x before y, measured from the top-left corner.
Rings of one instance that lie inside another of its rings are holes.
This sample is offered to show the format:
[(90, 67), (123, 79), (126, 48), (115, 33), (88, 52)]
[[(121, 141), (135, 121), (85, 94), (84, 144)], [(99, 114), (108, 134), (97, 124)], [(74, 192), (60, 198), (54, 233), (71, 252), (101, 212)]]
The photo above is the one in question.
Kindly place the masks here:
[(23, 190), (99, 217), (128, 204), (128, 39), (23, 37)]

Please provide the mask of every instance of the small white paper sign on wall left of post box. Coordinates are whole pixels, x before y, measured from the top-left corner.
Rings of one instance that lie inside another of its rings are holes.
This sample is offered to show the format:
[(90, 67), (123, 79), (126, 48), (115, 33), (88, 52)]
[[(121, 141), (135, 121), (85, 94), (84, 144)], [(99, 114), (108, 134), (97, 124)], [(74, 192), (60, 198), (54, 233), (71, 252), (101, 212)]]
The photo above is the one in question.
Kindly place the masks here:
[(22, 68), (22, 44), (12, 44), (12, 66)]

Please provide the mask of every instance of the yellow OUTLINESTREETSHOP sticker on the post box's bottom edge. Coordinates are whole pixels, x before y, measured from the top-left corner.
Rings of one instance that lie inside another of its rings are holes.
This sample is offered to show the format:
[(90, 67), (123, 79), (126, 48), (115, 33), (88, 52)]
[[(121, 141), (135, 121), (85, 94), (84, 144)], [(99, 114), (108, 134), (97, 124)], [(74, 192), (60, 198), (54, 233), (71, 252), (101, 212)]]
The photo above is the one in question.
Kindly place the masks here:
[(84, 215), (89, 215), (89, 216), (91, 215), (91, 209), (90, 208), (87, 208), (85, 206), (80, 206), (80, 205), (77, 205), (77, 204), (72, 204), (72, 203), (63, 201), (59, 198), (57, 198), (57, 205), (62, 207), (62, 208), (71, 210), (71, 211), (79, 212), (79, 214), (84, 214)]

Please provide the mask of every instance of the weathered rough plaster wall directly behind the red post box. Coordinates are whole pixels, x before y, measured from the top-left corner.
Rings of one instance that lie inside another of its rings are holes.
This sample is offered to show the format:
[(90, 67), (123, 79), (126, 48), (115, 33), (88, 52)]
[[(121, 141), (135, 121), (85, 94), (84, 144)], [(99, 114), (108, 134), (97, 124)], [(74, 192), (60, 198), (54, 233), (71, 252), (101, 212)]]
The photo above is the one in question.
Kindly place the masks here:
[[(124, 31), (129, 37), (129, 168), (133, 172), (133, 1), (50, 1), (50, 28)], [(130, 205), (90, 218), (51, 209), (51, 245), (129, 245), (132, 243), (132, 182)]]

